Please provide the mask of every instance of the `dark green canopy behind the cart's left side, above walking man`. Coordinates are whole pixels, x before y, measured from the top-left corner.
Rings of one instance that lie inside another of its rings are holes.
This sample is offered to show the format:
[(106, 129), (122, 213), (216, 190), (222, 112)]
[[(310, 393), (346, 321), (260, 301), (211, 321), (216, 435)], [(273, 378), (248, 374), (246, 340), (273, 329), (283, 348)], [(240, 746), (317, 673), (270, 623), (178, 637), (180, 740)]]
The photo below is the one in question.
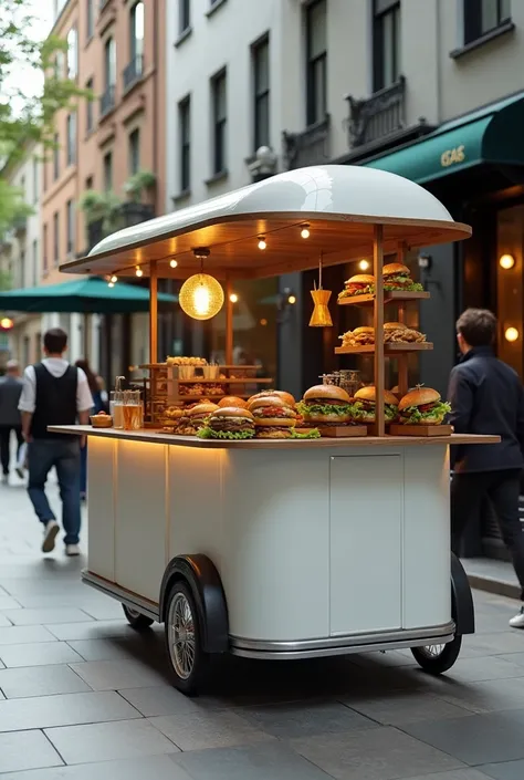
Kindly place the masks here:
[[(176, 303), (178, 298), (158, 293), (159, 303)], [(24, 288), (0, 292), (0, 310), (78, 314), (133, 314), (147, 312), (149, 290), (116, 282), (109, 287), (103, 279), (83, 278), (61, 284)]]

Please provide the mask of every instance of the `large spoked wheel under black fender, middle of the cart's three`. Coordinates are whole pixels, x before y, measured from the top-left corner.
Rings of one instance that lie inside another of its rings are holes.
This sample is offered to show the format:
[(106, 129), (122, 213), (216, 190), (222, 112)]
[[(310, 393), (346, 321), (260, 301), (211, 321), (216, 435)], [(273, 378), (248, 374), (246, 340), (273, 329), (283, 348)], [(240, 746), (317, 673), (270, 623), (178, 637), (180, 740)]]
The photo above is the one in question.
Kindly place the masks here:
[(176, 582), (167, 603), (166, 642), (175, 687), (188, 696), (198, 693), (207, 667), (198, 609), (185, 582)]

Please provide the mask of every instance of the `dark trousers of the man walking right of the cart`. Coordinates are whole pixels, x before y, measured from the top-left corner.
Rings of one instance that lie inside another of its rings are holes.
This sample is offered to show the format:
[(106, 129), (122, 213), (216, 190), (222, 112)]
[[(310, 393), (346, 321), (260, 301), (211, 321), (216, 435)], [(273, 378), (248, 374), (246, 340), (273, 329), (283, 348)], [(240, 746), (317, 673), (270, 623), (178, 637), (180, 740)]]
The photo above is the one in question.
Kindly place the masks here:
[(451, 549), (459, 554), (470, 518), (478, 517), (481, 501), (489, 498), (499, 520), (502, 538), (511, 552), (524, 601), (524, 533), (518, 518), (521, 469), (454, 474), (451, 480)]

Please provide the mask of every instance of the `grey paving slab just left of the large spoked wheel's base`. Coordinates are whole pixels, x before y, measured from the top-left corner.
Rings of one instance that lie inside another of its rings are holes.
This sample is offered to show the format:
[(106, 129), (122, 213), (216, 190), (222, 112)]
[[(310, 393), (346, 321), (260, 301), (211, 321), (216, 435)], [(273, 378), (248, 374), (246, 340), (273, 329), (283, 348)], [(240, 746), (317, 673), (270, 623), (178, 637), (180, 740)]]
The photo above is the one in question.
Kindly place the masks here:
[(120, 690), (165, 685), (166, 677), (146, 664), (136, 661), (87, 661), (71, 668), (93, 690)]

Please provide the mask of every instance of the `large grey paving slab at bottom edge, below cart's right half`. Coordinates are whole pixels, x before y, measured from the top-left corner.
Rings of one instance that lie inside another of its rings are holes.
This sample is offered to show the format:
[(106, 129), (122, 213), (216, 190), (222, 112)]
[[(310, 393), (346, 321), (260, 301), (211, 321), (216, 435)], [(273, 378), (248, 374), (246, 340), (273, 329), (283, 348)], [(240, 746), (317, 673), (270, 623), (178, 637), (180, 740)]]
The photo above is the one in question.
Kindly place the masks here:
[(290, 745), (336, 780), (394, 780), (463, 767), (457, 758), (395, 728), (292, 739)]

